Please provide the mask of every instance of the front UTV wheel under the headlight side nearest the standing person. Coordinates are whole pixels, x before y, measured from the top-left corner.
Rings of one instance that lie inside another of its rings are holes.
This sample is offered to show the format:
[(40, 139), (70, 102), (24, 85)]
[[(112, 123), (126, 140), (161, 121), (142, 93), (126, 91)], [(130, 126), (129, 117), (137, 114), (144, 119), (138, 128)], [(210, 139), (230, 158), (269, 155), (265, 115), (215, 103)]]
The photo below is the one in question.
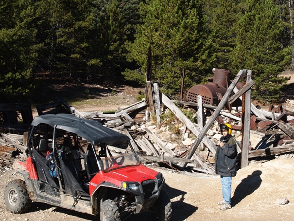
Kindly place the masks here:
[(161, 190), (158, 200), (150, 210), (156, 221), (170, 221), (173, 211), (170, 197)]

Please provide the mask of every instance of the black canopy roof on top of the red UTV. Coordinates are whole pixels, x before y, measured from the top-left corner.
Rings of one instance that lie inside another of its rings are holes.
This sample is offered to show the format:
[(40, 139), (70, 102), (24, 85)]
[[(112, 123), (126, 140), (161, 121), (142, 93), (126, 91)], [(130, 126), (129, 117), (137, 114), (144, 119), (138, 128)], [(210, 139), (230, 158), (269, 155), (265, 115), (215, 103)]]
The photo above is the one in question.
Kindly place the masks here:
[(37, 116), (34, 118), (32, 126), (39, 124), (48, 124), (52, 128), (78, 134), (93, 145), (129, 140), (129, 137), (124, 134), (106, 128), (97, 121), (82, 119), (73, 114), (59, 113)]

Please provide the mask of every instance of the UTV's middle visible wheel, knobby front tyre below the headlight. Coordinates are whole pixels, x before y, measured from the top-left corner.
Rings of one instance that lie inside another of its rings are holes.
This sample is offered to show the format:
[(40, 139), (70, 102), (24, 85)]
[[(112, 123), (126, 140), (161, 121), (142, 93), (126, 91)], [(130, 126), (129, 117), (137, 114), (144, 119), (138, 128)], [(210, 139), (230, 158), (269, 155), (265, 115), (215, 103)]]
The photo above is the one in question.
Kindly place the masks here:
[(105, 200), (101, 205), (100, 221), (121, 221), (119, 206), (112, 200)]

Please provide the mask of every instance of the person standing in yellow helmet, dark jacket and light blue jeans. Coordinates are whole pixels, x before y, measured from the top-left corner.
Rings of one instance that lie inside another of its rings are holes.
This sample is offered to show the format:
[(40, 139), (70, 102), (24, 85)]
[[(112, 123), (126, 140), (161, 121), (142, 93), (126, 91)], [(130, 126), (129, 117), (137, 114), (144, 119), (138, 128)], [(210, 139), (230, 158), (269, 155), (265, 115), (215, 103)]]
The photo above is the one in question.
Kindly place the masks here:
[(217, 204), (222, 205), (221, 210), (231, 208), (232, 177), (236, 176), (237, 150), (236, 142), (232, 137), (232, 126), (221, 124), (221, 140), (215, 153), (215, 173), (221, 175), (223, 200)]

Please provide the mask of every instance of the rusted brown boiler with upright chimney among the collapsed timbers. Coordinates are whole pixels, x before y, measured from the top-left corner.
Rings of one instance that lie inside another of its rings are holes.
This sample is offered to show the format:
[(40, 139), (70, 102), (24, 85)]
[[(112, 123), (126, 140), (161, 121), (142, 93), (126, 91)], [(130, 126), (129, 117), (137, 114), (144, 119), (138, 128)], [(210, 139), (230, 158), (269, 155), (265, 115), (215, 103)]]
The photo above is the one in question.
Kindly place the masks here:
[[(218, 105), (230, 85), (230, 71), (225, 69), (215, 69), (213, 81), (207, 84), (196, 84), (189, 89), (186, 101), (197, 102), (197, 96), (202, 95), (202, 102), (208, 105)], [(242, 83), (237, 84), (241, 88)]]

